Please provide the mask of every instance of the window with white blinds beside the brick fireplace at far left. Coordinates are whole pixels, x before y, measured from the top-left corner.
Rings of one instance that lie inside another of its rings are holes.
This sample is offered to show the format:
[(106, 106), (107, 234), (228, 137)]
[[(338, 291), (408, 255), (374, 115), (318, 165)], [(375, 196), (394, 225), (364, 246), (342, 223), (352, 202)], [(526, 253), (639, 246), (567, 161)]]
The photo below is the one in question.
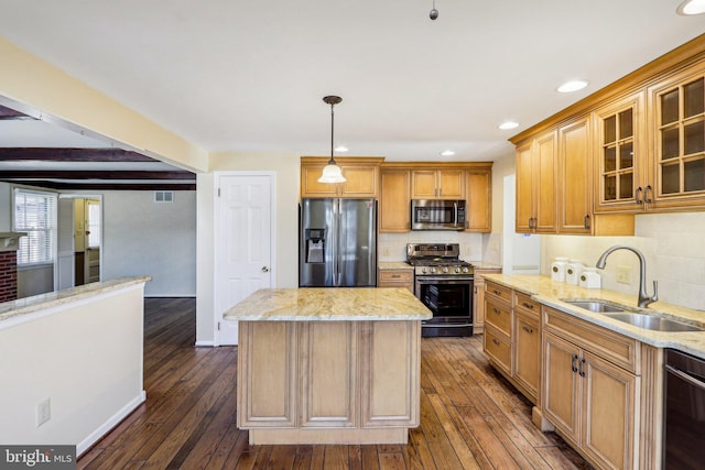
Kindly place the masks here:
[(55, 194), (14, 189), (14, 230), (28, 233), (20, 238), (18, 265), (52, 263), (55, 229)]

